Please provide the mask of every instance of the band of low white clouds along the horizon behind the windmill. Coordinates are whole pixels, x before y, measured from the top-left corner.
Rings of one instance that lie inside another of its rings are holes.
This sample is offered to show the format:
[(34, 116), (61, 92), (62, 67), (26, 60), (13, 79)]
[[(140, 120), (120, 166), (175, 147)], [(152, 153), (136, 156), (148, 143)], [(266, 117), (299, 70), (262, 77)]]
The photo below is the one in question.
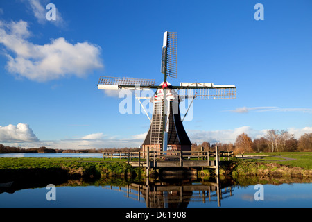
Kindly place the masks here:
[[(296, 139), (299, 139), (304, 133), (312, 133), (312, 127), (288, 128), (287, 130), (289, 133), (294, 134)], [(128, 138), (108, 136), (103, 133), (92, 133), (78, 139), (41, 141), (37, 139), (28, 125), (19, 123), (17, 126), (0, 126), (0, 142), (7, 146), (21, 146), (24, 148), (40, 146), (58, 149), (124, 148), (141, 146), (146, 137), (146, 133), (132, 135)], [(188, 130), (191, 142), (196, 142), (198, 144), (204, 141), (210, 142), (211, 144), (216, 142), (234, 144), (236, 137), (241, 133), (246, 133), (254, 140), (266, 135), (267, 129), (255, 130), (250, 126), (241, 126), (227, 130)]]

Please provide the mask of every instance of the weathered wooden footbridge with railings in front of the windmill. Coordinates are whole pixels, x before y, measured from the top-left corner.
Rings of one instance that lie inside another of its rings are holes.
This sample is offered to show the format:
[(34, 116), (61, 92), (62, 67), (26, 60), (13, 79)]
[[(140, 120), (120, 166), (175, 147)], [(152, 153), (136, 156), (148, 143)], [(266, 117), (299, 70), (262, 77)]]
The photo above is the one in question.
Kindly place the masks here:
[(146, 176), (150, 168), (157, 167), (206, 167), (216, 169), (219, 175), (220, 161), (229, 160), (233, 151), (138, 151), (125, 153), (104, 152), (103, 158), (127, 158), (132, 167), (146, 167)]

